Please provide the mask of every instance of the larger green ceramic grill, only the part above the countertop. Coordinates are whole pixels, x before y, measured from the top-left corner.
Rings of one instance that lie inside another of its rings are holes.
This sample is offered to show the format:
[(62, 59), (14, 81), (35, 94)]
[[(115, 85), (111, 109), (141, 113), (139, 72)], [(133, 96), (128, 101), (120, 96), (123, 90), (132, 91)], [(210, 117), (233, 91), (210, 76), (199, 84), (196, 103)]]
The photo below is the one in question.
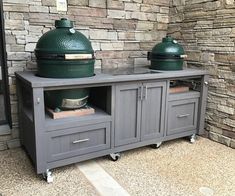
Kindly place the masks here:
[(48, 31), (36, 45), (38, 75), (49, 78), (81, 78), (94, 74), (94, 51), (91, 42), (62, 18), (56, 29)]

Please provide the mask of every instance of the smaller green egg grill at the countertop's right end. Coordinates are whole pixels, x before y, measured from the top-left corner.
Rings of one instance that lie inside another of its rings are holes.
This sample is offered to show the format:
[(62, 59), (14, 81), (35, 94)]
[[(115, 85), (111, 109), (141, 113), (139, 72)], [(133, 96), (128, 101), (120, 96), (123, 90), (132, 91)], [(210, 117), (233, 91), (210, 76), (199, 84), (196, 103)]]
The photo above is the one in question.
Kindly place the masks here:
[(164, 37), (162, 43), (155, 45), (148, 53), (150, 68), (155, 70), (182, 70), (185, 57), (183, 47), (170, 36)]

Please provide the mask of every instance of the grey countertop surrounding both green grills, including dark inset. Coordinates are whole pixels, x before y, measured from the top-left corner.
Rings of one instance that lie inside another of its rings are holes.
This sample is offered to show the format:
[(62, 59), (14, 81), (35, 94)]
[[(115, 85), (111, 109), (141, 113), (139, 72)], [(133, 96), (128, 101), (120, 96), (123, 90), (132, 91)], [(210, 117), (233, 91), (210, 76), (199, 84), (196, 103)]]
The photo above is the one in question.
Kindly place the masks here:
[(191, 77), (207, 75), (205, 70), (184, 69), (180, 71), (150, 70), (147, 67), (96, 69), (95, 75), (86, 78), (44, 78), (36, 76), (36, 72), (16, 72), (16, 77), (23, 80), (31, 87), (57, 87), (68, 85), (90, 85), (117, 83), (127, 81), (160, 80), (177, 77)]

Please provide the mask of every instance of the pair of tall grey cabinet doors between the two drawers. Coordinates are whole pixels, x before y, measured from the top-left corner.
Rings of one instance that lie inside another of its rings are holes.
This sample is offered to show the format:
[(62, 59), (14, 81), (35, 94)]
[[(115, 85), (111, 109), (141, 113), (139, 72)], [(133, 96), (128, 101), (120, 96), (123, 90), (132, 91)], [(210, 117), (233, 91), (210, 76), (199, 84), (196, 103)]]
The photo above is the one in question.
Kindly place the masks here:
[(162, 137), (166, 82), (116, 86), (115, 146)]

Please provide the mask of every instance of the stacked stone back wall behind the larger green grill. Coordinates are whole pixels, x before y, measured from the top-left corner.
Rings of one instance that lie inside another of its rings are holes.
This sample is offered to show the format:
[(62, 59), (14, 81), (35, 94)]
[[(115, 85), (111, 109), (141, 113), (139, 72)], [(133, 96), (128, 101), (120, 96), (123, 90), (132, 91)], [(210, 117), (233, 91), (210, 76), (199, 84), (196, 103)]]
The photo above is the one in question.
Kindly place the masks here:
[[(34, 49), (54, 21), (66, 17), (85, 34), (96, 51), (96, 67), (147, 65), (147, 51), (166, 35), (169, 0), (3, 0), (7, 67), (13, 129), (0, 136), (0, 150), (19, 145), (15, 71), (35, 70)], [(7, 145), (8, 144), (8, 145)]]

